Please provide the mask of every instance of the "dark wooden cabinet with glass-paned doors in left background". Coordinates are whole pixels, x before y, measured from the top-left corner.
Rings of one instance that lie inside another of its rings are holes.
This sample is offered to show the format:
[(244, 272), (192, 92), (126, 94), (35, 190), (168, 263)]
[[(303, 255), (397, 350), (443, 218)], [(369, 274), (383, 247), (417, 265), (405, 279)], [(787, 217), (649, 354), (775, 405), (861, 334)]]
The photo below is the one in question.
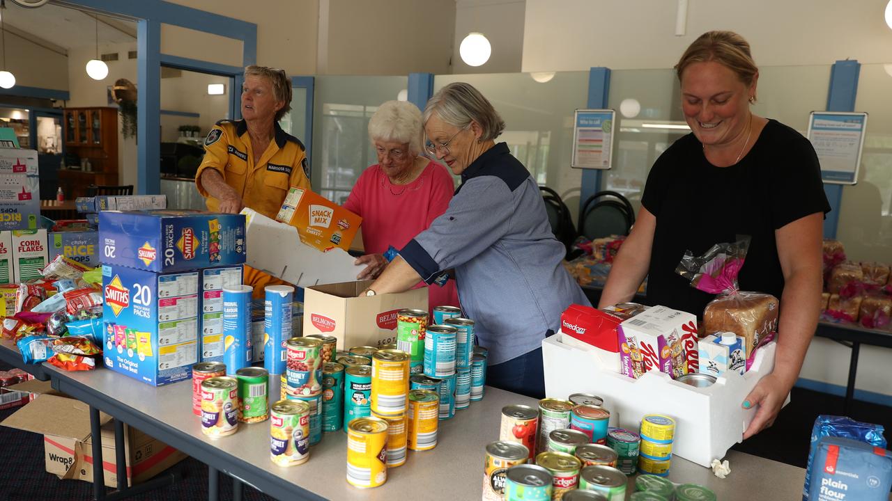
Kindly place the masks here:
[[(66, 108), (63, 120), (65, 149), (78, 157), (77, 165), (59, 170), (59, 184), (69, 198), (86, 196), (89, 185), (118, 184), (118, 110)], [(90, 160), (90, 170), (81, 168)], [(74, 162), (73, 158), (68, 161)]]

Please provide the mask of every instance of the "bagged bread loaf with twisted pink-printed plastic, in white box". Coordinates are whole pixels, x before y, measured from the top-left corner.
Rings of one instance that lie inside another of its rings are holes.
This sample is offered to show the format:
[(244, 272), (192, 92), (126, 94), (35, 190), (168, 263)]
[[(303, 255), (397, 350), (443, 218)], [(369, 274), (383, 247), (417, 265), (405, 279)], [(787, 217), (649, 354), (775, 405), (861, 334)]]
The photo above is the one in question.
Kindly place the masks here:
[(777, 298), (763, 292), (739, 291), (737, 276), (747, 257), (749, 240), (717, 243), (695, 257), (685, 251), (675, 273), (690, 280), (700, 291), (721, 294), (703, 311), (703, 332), (735, 333), (746, 341), (749, 357), (767, 335), (777, 331)]

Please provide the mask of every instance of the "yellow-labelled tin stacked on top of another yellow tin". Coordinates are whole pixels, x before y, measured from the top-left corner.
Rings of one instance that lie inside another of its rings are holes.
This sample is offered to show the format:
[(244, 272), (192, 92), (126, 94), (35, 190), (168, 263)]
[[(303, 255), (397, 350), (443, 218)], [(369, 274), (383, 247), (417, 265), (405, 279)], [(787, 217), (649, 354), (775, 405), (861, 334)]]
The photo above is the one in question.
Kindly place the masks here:
[(409, 356), (399, 349), (379, 350), (372, 357), (372, 410), (401, 415), (409, 410)]

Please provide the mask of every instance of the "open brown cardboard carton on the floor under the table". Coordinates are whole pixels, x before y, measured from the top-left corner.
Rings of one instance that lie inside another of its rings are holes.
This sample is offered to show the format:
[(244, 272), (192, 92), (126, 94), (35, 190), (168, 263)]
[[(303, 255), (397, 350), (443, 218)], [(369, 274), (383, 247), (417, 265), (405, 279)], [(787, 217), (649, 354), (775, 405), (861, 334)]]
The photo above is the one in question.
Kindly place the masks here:
[[(7, 417), (4, 426), (44, 435), (46, 472), (61, 479), (93, 481), (93, 441), (87, 404), (50, 390), (48, 382), (29, 381), (11, 388), (41, 393)], [(115, 466), (114, 423), (100, 414), (105, 485), (118, 485)], [(186, 455), (136, 428), (124, 426), (128, 485), (151, 479), (179, 463)]]

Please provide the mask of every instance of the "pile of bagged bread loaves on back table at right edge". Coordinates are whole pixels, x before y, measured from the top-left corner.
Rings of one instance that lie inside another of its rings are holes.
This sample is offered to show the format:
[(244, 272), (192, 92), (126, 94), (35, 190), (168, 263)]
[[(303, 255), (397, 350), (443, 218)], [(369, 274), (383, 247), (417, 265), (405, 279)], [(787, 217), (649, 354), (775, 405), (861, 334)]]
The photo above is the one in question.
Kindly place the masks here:
[(842, 242), (825, 240), (823, 268), (822, 320), (892, 332), (888, 263), (848, 260)]

